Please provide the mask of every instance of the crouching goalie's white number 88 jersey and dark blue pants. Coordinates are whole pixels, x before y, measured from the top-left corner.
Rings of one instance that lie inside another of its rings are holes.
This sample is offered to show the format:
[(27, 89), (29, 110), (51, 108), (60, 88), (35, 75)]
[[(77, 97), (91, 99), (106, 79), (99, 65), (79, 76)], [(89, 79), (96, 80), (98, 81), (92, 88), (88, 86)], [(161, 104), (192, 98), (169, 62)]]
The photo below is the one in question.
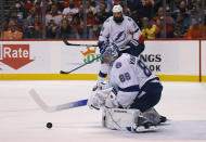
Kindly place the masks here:
[(120, 106), (144, 112), (158, 103), (163, 89), (159, 79), (138, 57), (123, 53), (110, 73), (110, 83), (117, 90), (116, 102)]

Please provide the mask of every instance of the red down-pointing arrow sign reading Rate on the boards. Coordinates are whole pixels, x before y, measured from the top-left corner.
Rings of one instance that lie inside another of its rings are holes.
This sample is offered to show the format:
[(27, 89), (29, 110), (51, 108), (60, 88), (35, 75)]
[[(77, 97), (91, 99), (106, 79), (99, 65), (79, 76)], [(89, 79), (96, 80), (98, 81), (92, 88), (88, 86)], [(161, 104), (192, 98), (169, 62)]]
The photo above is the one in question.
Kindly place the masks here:
[(14, 69), (33, 62), (29, 55), (29, 44), (0, 44), (0, 62)]

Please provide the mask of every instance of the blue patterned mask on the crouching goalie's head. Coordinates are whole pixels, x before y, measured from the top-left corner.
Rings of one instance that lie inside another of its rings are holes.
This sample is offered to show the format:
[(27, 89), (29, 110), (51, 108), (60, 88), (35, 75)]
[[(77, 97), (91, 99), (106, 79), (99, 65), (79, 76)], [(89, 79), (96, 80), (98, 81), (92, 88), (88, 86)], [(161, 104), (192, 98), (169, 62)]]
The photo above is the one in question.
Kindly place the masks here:
[(119, 55), (118, 47), (116, 44), (105, 43), (101, 51), (101, 57), (104, 63), (113, 63)]

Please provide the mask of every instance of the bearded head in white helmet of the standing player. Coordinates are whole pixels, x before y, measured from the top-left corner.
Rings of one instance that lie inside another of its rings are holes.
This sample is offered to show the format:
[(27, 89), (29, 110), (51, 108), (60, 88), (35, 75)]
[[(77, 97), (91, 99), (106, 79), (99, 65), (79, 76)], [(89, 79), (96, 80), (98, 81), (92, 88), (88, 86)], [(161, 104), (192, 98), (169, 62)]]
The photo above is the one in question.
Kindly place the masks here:
[(117, 24), (120, 24), (124, 21), (123, 7), (121, 5), (114, 5), (113, 7), (113, 20)]

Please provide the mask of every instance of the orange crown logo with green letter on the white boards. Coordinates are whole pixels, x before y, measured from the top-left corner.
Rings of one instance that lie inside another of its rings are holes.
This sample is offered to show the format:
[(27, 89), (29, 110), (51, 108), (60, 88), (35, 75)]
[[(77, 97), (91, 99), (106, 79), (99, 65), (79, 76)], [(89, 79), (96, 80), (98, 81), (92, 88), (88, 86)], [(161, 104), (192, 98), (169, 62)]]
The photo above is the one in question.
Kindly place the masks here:
[[(80, 51), (81, 54), (85, 56), (83, 62), (88, 63), (92, 61), (93, 59), (96, 59), (98, 56), (100, 56), (100, 54), (95, 54), (95, 51), (96, 51), (96, 47), (95, 48), (87, 47), (87, 51)], [(100, 59), (95, 60), (95, 62), (100, 62)]]

